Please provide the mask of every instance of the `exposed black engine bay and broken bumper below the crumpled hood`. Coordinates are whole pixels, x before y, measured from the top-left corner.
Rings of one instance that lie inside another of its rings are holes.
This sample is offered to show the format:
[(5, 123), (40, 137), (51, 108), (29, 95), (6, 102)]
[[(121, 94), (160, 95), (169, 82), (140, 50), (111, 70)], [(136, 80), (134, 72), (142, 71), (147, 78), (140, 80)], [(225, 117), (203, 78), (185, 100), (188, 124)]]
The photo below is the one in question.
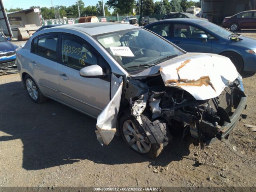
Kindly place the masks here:
[[(179, 125), (184, 134), (198, 139), (201, 146), (214, 138), (222, 138), (222, 126), (230, 123), (230, 116), (241, 97), (246, 97), (238, 80), (229, 84), (222, 93), (207, 100), (196, 100), (178, 87), (166, 87), (161, 76), (124, 82), (124, 98), (129, 100), (132, 115), (144, 128), (151, 143), (170, 142), (166, 127)], [(138, 92), (142, 93), (136, 96)], [(162, 123), (160, 123), (162, 122)], [(187, 130), (187, 132), (185, 132)]]

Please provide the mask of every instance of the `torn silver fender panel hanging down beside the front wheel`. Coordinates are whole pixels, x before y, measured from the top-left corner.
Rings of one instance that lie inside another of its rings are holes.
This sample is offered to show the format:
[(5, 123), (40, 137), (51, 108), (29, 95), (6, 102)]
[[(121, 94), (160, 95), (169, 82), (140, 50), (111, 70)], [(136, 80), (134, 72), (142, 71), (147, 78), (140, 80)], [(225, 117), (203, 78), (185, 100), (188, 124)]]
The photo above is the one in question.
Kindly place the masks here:
[(118, 111), (120, 107), (121, 95), (122, 95), (122, 86), (123, 81), (122, 77), (117, 78), (112, 74), (111, 85), (114, 85), (115, 88), (111, 91), (116, 91), (108, 105), (102, 110), (97, 119), (96, 135), (100, 144), (108, 145), (110, 141), (114, 138), (116, 133), (116, 122), (118, 117)]

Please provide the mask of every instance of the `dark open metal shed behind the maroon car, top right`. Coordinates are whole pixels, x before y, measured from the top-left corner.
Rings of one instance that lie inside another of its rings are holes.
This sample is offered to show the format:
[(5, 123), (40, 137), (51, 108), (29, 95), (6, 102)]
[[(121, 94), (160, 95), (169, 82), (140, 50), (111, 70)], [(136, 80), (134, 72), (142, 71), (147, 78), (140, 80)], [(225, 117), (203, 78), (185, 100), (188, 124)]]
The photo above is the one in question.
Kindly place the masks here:
[(202, 17), (217, 24), (227, 16), (255, 9), (256, 0), (202, 0)]

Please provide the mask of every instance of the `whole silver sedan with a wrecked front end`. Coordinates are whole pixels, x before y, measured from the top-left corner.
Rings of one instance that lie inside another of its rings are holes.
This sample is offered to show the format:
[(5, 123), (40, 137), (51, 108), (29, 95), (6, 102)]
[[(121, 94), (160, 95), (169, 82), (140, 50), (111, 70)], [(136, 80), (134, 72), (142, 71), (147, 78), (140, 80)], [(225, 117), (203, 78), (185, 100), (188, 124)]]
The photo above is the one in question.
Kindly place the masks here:
[(202, 147), (227, 138), (246, 108), (242, 77), (229, 58), (186, 53), (128, 24), (43, 30), (17, 51), (17, 63), (34, 102), (52, 98), (97, 118), (101, 144), (120, 134), (150, 158), (175, 130)]

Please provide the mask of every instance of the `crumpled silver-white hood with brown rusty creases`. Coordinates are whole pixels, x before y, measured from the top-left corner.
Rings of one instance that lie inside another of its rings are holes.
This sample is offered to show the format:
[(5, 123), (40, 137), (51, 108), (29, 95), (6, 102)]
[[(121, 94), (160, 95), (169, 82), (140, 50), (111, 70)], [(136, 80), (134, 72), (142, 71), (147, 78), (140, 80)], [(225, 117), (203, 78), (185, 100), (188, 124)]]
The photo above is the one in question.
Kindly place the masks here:
[(229, 58), (205, 53), (183, 54), (135, 76), (152, 75), (158, 71), (165, 86), (182, 88), (196, 100), (219, 96), (230, 82), (238, 78), (236, 67)]

